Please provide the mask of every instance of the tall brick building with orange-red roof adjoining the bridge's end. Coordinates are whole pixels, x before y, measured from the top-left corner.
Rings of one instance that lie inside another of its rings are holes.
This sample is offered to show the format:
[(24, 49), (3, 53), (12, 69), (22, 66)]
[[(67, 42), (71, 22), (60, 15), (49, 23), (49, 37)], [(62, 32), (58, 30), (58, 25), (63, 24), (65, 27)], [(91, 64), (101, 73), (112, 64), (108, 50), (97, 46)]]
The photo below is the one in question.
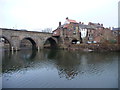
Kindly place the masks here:
[(53, 37), (58, 38), (60, 42), (66, 45), (77, 43), (80, 40), (78, 23), (66, 18), (63, 25), (59, 22), (58, 28), (53, 31)]

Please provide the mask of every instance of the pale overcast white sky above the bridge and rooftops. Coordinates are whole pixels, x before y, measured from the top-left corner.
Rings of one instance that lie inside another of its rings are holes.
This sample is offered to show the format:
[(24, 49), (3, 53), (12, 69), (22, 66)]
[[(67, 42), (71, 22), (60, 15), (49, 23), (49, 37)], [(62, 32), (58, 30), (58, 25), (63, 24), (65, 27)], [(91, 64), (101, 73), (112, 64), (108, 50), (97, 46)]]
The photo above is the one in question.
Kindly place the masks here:
[(0, 0), (0, 28), (56, 29), (65, 18), (118, 26), (120, 0)]

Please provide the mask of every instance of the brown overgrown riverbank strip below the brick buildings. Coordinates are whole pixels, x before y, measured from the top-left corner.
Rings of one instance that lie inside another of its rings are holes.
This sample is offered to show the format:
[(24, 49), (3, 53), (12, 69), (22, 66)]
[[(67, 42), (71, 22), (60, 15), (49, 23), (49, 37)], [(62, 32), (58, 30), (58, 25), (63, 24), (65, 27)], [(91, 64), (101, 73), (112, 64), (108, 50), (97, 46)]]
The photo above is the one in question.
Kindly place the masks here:
[(120, 51), (120, 44), (72, 44), (63, 49), (81, 51)]

